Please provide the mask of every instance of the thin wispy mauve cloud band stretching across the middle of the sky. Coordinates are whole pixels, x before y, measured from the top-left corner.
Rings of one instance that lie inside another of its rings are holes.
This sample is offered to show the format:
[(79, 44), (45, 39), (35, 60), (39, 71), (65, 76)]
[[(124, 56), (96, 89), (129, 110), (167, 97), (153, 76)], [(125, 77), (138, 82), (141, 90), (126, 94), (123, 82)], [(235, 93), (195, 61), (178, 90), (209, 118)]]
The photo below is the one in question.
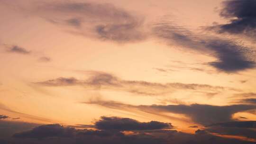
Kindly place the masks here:
[(122, 80), (110, 73), (91, 72), (87, 80), (78, 80), (73, 77), (60, 77), (53, 80), (36, 82), (41, 86), (83, 86), (85, 89), (92, 90), (120, 90), (138, 95), (163, 95), (174, 92), (175, 90), (203, 90), (206, 94), (216, 93), (223, 90), (233, 90), (233, 88), (211, 86), (207, 84), (184, 84), (184, 83), (156, 83), (147, 81), (128, 81)]

